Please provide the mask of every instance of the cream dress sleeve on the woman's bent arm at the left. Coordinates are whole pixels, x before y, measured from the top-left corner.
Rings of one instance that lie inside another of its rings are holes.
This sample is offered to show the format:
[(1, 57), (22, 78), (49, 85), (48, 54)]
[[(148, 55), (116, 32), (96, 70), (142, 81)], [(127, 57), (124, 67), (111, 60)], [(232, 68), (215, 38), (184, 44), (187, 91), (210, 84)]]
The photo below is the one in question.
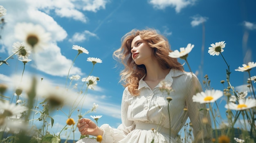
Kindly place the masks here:
[(121, 102), (121, 125), (117, 129), (111, 128), (108, 124), (101, 125), (100, 128), (103, 129), (103, 136), (101, 143), (117, 143), (121, 139), (124, 139), (128, 133), (134, 130), (135, 125), (133, 121), (128, 120), (128, 106), (129, 103), (129, 91), (126, 88), (123, 92), (122, 102)]

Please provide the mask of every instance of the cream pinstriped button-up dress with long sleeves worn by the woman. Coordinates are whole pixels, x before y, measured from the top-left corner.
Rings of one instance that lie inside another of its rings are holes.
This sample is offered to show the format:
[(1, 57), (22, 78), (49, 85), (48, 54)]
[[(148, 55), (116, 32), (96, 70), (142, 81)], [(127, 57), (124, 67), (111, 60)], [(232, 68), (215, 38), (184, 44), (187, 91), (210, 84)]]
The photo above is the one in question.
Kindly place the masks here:
[[(192, 101), (193, 95), (202, 91), (200, 82), (193, 73), (170, 70), (164, 79), (174, 90), (170, 95), (166, 91), (160, 91), (159, 84), (151, 90), (143, 78), (139, 81), (140, 95), (132, 96), (128, 88), (125, 88), (121, 103), (122, 123), (117, 129), (103, 124), (101, 143), (151, 143), (152, 140), (152, 143), (178, 143), (176, 136), (188, 117), (193, 125), (193, 136), (203, 136), (204, 143), (211, 143), (207, 128), (204, 127), (203, 132), (200, 132), (200, 121), (204, 115), (199, 109), (203, 106)], [(169, 103), (170, 119), (166, 97), (172, 98)], [(184, 108), (187, 108), (187, 111)], [(87, 138), (77, 143), (99, 142)]]

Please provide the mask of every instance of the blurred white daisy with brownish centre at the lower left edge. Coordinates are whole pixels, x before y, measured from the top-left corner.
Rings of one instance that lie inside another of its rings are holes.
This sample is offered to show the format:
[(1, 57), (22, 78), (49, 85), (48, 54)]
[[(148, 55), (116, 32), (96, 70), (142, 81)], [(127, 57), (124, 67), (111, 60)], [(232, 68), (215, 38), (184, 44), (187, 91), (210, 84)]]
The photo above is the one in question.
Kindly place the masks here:
[(0, 102), (0, 115), (4, 117), (12, 117), (18, 119), (27, 108), (8, 101)]

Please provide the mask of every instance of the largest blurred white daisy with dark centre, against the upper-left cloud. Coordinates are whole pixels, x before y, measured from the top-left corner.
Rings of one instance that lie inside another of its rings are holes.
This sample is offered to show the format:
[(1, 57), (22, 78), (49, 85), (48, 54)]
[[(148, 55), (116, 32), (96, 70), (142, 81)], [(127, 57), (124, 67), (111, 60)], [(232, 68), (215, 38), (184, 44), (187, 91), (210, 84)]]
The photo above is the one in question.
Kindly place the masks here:
[(50, 33), (45, 32), (45, 29), (38, 24), (18, 23), (14, 29), (16, 38), (24, 41), (26, 46), (34, 51), (40, 51), (49, 44)]

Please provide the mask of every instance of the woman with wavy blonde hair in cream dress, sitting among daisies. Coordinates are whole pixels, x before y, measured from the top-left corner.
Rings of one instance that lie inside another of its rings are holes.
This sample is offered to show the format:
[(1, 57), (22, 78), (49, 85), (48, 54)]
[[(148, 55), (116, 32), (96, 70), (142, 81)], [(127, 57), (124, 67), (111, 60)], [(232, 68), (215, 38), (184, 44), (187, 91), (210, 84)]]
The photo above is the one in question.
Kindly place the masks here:
[[(81, 119), (77, 125), (81, 134), (102, 135), (101, 143), (177, 143), (177, 134), (189, 117), (195, 143), (210, 143), (209, 116), (199, 112), (204, 108), (201, 104), (192, 101), (192, 96), (202, 91), (200, 82), (193, 73), (185, 72), (177, 59), (168, 57), (169, 52), (168, 40), (154, 29), (134, 29), (124, 35), (121, 48), (114, 52), (124, 64), (120, 74), (125, 87), (122, 123), (114, 129)], [(203, 118), (207, 119), (204, 124)]]

